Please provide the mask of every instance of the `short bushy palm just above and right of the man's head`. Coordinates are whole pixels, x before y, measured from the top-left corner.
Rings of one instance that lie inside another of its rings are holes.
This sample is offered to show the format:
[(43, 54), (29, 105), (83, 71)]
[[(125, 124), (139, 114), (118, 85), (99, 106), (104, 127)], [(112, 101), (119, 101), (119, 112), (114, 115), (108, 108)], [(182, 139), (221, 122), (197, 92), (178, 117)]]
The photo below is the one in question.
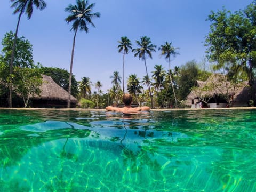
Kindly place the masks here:
[(140, 85), (139, 78), (137, 78), (136, 74), (132, 74), (128, 78), (127, 82), (127, 91), (130, 94), (135, 95), (135, 100), (137, 101), (137, 93), (142, 93), (143, 87)]

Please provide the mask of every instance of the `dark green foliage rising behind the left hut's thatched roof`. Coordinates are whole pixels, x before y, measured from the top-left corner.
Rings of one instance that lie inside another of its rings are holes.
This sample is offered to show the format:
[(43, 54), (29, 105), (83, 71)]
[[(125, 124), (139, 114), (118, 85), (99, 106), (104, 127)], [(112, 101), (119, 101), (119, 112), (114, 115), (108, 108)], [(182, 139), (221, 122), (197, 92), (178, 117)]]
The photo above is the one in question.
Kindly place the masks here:
[[(69, 72), (66, 69), (60, 69), (57, 67), (42, 67), (40, 73), (52, 77), (53, 81), (68, 91), (69, 84)], [(78, 82), (75, 76), (72, 77), (71, 93), (74, 97), (78, 97)]]

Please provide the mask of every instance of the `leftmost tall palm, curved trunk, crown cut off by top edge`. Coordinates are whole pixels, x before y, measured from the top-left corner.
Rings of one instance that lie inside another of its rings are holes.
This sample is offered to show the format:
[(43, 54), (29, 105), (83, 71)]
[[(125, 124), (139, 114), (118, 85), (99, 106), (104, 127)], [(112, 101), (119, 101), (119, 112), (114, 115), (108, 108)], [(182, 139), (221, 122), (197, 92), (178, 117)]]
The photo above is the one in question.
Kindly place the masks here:
[(9, 83), (8, 105), (9, 107), (12, 107), (12, 71), (13, 71), (14, 53), (15, 53), (15, 47), (17, 43), (18, 29), (20, 25), (21, 15), (25, 13), (28, 15), (28, 19), (30, 19), (33, 13), (33, 6), (36, 6), (36, 9), (39, 9), (42, 11), (43, 9), (45, 9), (46, 3), (44, 2), (44, 0), (10, 0), (10, 1), (14, 2), (11, 5), (11, 8), (15, 7), (13, 14), (19, 13), (18, 23), (15, 30), (15, 37), (12, 45), (11, 60), (10, 60), (10, 83)]

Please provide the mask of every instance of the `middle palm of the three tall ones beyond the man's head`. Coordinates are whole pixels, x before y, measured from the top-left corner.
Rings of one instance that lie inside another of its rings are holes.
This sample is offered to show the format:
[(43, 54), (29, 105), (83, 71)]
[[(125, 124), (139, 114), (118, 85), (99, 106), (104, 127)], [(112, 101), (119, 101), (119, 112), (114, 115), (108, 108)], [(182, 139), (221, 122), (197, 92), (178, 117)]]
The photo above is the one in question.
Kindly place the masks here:
[[(134, 57), (139, 57), (141, 58), (142, 61), (145, 62), (145, 67), (146, 67), (146, 75), (148, 76), (148, 69), (147, 69), (147, 64), (146, 64), (146, 55), (148, 55), (152, 59), (152, 53), (151, 52), (156, 52), (155, 48), (156, 45), (151, 44), (151, 39), (147, 36), (140, 37), (140, 41), (136, 41), (137, 45), (139, 46), (136, 49), (133, 49), (132, 52), (135, 52)], [(154, 108), (153, 104), (153, 97), (151, 94), (150, 86), (148, 86), (149, 94), (150, 94), (150, 99), (151, 99), (151, 108)]]

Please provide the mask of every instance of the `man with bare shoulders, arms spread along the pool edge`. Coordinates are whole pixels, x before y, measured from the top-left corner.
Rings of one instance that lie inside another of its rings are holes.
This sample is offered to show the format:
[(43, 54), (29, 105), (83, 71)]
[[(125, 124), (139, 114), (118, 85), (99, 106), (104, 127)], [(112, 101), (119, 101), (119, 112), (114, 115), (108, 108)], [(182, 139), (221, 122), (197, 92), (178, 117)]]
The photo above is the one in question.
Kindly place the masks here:
[(147, 106), (131, 107), (132, 95), (130, 95), (128, 93), (123, 95), (123, 102), (124, 102), (124, 107), (108, 106), (108, 107), (106, 107), (106, 110), (107, 111), (122, 112), (122, 113), (135, 113), (135, 112), (138, 112), (138, 111), (148, 111), (148, 110), (150, 110), (150, 108), (147, 107)]

